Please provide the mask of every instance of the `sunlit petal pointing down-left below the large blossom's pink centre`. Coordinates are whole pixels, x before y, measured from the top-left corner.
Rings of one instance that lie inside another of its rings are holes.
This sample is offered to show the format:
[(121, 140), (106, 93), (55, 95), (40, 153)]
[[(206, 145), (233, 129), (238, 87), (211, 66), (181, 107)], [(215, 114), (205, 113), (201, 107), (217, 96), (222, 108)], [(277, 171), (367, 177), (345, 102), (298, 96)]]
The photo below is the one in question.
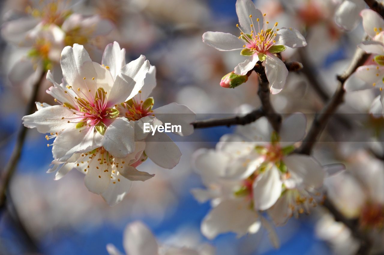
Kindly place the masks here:
[(94, 127), (77, 129), (73, 125), (66, 128), (53, 142), (53, 157), (60, 162), (65, 162), (73, 153), (86, 151), (93, 145), (93, 131)]

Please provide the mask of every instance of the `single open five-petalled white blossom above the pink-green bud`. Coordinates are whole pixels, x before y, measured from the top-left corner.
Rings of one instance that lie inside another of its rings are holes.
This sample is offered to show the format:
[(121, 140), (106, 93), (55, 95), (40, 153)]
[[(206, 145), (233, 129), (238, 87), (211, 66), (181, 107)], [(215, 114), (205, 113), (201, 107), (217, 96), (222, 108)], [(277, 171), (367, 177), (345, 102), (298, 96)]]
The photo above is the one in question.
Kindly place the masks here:
[(246, 75), (257, 61), (263, 63), (265, 74), (270, 82), (271, 92), (277, 94), (283, 89), (288, 70), (274, 53), (286, 49), (306, 46), (305, 38), (293, 28), (278, 29), (276, 22), (269, 25), (266, 14), (256, 9), (251, 0), (237, 0), (236, 12), (239, 19), (237, 27), (240, 36), (230, 33), (208, 31), (203, 34), (203, 41), (220, 51), (241, 50), (247, 60), (235, 67), (235, 73)]

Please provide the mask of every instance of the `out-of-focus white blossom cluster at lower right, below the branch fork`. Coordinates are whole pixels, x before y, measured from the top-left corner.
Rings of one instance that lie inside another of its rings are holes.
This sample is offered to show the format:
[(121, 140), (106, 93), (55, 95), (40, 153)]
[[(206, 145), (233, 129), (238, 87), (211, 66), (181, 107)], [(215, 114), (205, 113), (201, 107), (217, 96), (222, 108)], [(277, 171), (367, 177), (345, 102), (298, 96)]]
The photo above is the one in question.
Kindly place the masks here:
[(280, 135), (263, 117), (239, 126), (239, 135), (223, 136), (216, 150), (196, 153), (195, 166), (209, 190), (193, 193), (201, 202), (213, 199), (215, 206), (202, 223), (207, 237), (228, 231), (256, 232), (265, 222), (258, 211), (269, 209), (274, 222), (282, 225), (317, 204), (323, 167), (311, 156), (291, 154), (305, 128), (302, 113), (286, 118)]

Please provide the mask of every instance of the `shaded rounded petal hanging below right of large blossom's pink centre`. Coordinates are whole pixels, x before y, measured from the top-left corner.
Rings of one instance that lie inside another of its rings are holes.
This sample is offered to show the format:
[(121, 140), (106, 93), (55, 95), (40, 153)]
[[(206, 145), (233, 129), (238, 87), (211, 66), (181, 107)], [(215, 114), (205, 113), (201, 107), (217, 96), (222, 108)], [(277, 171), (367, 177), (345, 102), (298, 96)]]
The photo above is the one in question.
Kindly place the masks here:
[(117, 118), (109, 125), (101, 143), (114, 157), (124, 158), (135, 151), (134, 123), (126, 118)]

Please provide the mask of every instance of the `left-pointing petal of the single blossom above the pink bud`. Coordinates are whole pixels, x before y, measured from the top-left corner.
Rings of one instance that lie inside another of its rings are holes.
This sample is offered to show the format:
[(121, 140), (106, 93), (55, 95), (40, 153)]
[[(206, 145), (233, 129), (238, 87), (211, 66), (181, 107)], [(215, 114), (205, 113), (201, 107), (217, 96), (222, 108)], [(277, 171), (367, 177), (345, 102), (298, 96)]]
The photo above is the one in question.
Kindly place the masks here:
[(244, 45), (244, 42), (237, 36), (223, 32), (205, 32), (203, 41), (220, 51), (241, 50)]

